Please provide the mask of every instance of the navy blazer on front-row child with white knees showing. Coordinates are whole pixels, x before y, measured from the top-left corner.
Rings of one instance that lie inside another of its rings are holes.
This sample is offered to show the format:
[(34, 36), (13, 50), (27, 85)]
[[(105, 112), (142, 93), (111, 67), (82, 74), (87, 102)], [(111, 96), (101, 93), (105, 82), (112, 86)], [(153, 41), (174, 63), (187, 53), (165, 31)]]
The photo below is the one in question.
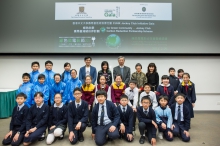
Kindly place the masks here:
[(68, 109), (66, 105), (63, 105), (59, 110), (59, 107), (50, 107), (50, 115), (49, 115), (49, 122), (48, 128), (55, 125), (56, 127), (59, 125), (66, 125), (67, 124), (67, 113)]

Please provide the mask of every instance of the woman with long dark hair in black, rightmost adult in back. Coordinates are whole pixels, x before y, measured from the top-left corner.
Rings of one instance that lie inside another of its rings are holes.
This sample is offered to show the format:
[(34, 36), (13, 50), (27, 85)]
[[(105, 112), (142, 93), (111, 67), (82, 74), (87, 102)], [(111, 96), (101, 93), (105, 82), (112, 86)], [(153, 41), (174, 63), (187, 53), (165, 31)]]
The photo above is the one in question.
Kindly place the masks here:
[(156, 91), (159, 85), (159, 74), (157, 73), (155, 63), (150, 63), (148, 65), (146, 76), (148, 79), (148, 84), (151, 85), (151, 91)]

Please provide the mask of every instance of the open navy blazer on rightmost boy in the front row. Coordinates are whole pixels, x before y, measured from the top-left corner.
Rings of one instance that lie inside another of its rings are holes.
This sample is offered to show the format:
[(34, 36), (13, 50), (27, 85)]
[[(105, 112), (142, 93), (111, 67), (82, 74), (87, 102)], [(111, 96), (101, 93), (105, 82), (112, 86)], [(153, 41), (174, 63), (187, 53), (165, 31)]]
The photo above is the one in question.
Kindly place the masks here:
[[(175, 109), (176, 109), (176, 103), (172, 104), (171, 107), (171, 112), (172, 112), (172, 116), (173, 116), (173, 122), (176, 121), (175, 118)], [(188, 131), (190, 128), (190, 114), (189, 114), (189, 109), (187, 108), (186, 105), (183, 104), (183, 119), (184, 119), (184, 125), (181, 125), (181, 129), (182, 130), (186, 130)]]

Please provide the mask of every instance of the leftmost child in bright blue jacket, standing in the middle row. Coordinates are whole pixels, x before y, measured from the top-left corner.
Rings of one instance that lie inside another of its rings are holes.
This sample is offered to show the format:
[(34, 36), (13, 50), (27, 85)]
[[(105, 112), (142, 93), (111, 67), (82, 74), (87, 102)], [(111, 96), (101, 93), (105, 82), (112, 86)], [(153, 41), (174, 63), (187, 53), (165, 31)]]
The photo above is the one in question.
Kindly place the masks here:
[(24, 93), (27, 96), (24, 104), (30, 108), (32, 105), (34, 85), (30, 83), (30, 75), (28, 73), (22, 75), (22, 80), (23, 84), (18, 88), (17, 94)]

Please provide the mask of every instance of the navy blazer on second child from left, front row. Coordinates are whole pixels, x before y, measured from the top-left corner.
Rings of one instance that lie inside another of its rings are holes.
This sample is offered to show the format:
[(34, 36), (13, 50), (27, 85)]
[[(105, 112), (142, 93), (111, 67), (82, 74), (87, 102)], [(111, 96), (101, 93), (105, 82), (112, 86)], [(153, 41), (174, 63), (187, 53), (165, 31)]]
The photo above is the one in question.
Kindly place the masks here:
[(37, 109), (36, 104), (32, 105), (27, 117), (26, 131), (34, 127), (37, 127), (37, 129), (40, 127), (47, 127), (49, 112), (50, 108), (45, 103), (39, 110)]

